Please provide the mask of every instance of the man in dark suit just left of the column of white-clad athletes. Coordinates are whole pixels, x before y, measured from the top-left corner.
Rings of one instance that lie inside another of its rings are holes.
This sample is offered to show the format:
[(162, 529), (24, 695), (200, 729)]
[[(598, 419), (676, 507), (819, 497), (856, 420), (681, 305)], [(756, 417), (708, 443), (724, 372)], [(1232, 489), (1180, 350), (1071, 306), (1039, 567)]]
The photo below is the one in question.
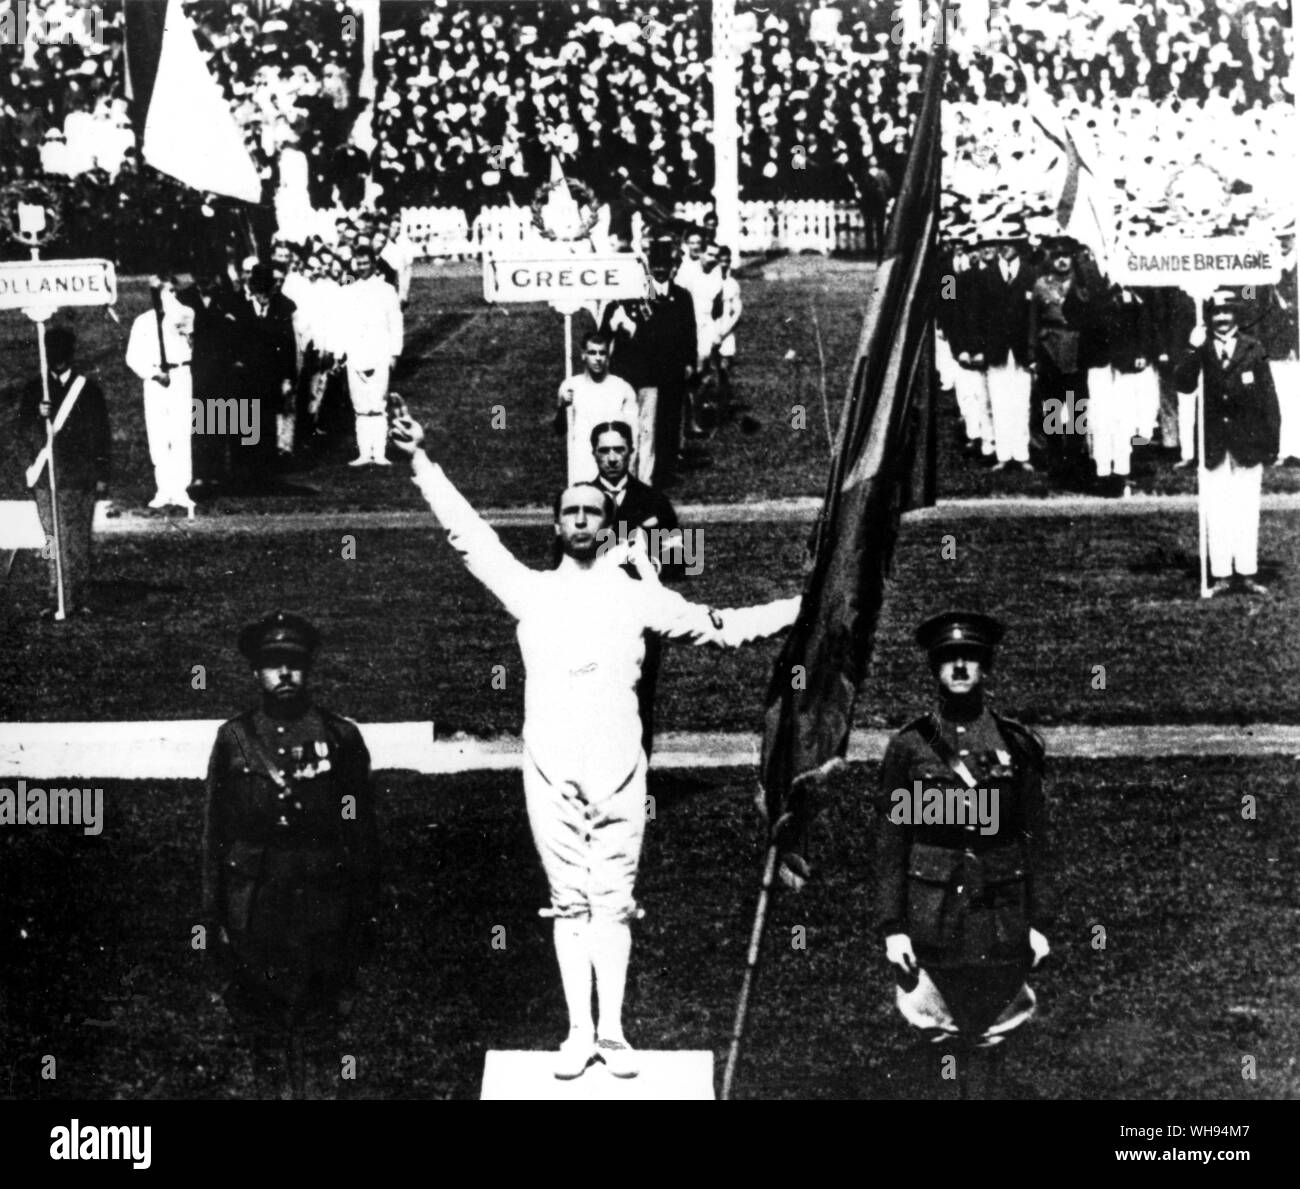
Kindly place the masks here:
[(265, 486), (273, 478), (277, 416), (294, 411), (298, 346), (294, 339), (294, 303), (276, 288), (265, 264), (248, 272), (244, 291), (234, 299), (228, 327), (231, 344), (230, 381), (234, 396), (256, 400), (256, 442), (233, 443), (231, 479), (239, 487)]

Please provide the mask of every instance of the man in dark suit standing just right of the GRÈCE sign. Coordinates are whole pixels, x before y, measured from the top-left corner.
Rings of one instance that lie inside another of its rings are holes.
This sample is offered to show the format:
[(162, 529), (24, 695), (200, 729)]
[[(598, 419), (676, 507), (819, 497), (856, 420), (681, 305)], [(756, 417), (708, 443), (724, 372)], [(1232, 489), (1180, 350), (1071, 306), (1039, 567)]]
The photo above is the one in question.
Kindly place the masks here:
[(675, 266), (672, 240), (656, 239), (650, 291), (640, 300), (611, 303), (601, 324), (614, 342), (610, 370), (637, 391), (637, 473), (656, 487), (676, 470), (686, 383), (696, 372), (696, 305), (673, 285)]

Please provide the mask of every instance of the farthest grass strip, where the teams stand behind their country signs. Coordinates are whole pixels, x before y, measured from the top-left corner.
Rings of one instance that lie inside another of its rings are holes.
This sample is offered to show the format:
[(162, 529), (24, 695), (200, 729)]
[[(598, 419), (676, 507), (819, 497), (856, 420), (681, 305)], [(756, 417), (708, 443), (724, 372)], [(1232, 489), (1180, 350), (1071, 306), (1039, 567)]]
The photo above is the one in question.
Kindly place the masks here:
[[(712, 443), (710, 469), (692, 472), (673, 489), (677, 500), (744, 500), (822, 495), (829, 437), (866, 309), (870, 265), (805, 256), (780, 259), (744, 281), (745, 316), (738, 330), (737, 378), (763, 418), (762, 433), (734, 428)], [(124, 282), (121, 325), (100, 309), (69, 311), (81, 338), (81, 363), (100, 376), (109, 398), (114, 437), (113, 496), (142, 508), (152, 490), (139, 382), (122, 363), (131, 320), (148, 308), (148, 290)], [(586, 314), (580, 314), (581, 324)], [(581, 331), (581, 325), (578, 325)], [(818, 352), (820, 337), (822, 355)], [(439, 456), (471, 499), (497, 505), (549, 503), (564, 477), (563, 439), (550, 424), (563, 377), (563, 320), (545, 307), (489, 309), (469, 265), (432, 266), (412, 287), (407, 309), (407, 361), (393, 381), (416, 416), (429, 421)], [(824, 357), (824, 391), (822, 359)], [(0, 374), (8, 386), (35, 376), (31, 324), (0, 314)], [(229, 394), (237, 395), (237, 394)], [(5, 402), (0, 400), (0, 404)], [(494, 428), (497, 408), (504, 425)], [(796, 408), (802, 415), (796, 416)], [(801, 421), (802, 429), (793, 424)], [(944, 411), (939, 491), (944, 498), (1045, 494), (1044, 476), (992, 474), (956, 451), (956, 405)], [(0, 430), (8, 437), (0, 420)], [(6, 452), (8, 454), (8, 452)], [(350, 470), (350, 441), (335, 441), (294, 482), (306, 489), (278, 498), (225, 498), (213, 511), (287, 508), (413, 507), (415, 492), (373, 468)], [(21, 494), (16, 460), (3, 460), (4, 494)], [(1191, 491), (1195, 476), (1167, 464), (1139, 463), (1148, 490)], [(1300, 472), (1273, 470), (1268, 490), (1300, 490)]]

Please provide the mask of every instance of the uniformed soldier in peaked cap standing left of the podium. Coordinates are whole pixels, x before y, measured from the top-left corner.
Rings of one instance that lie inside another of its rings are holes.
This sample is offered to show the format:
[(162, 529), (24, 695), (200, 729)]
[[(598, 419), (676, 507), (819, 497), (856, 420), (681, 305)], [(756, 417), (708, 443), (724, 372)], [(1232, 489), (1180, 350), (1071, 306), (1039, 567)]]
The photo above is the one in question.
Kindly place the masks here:
[(203, 897), (222, 997), (286, 1097), (306, 1086), (304, 1059), (339, 1073), (330, 1049), (378, 902), (370, 756), (308, 693), (318, 641), (285, 612), (239, 633), (261, 704), (221, 725), (208, 763)]

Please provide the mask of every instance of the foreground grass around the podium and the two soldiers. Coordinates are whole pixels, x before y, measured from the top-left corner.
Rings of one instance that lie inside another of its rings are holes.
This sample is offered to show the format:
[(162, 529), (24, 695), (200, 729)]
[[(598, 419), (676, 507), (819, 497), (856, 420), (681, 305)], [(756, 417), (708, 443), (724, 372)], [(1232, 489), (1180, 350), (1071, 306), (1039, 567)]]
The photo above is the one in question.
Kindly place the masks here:
[[(638, 882), (646, 917), (629, 1034), (641, 1047), (711, 1049), (719, 1068), (760, 864), (750, 780), (653, 777)], [(864, 793), (874, 780), (861, 765), (846, 786)], [(473, 1098), (486, 1049), (549, 1047), (563, 1029), (519, 781), (398, 776), (381, 790), (384, 942), (346, 1051), (360, 1060), (360, 1097)], [(1062, 761), (1049, 790), (1061, 907), (1053, 958), (1034, 980), (1040, 1017), (1008, 1059), (1011, 1093), (1300, 1095), (1294, 765)], [(1254, 821), (1240, 816), (1247, 793), (1258, 798)], [(222, 1042), (188, 949), (200, 807), (196, 784), (122, 782), (107, 789), (98, 838), (0, 834), (9, 995), (0, 1094), (265, 1093)], [(872, 829), (864, 795), (846, 795), (816, 828), (819, 878), (775, 902), (742, 1097), (952, 1095), (915, 1060), (893, 1010), (870, 920)], [(491, 947), (495, 925), (504, 950)], [(798, 925), (806, 950), (792, 943)], [(47, 1053), (56, 1081), (35, 1072)], [(1242, 1076), (1247, 1055), (1253, 1081)]]

